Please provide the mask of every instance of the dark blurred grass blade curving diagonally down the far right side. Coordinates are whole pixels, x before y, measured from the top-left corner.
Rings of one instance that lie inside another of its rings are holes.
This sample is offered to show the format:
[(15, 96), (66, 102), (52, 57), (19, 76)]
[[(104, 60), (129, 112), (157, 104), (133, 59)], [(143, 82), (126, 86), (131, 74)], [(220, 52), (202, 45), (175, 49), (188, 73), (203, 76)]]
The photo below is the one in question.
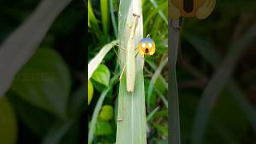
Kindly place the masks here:
[(210, 109), (218, 98), (220, 91), (229, 81), (231, 74), (234, 71), (234, 67), (238, 62), (238, 59), (249, 47), (250, 43), (254, 40), (255, 37), (256, 26), (253, 26), (246, 32), (245, 35), (243, 35), (239, 41), (232, 43), (230, 52), (227, 54), (227, 57), (222, 62), (221, 66), (218, 67), (216, 73), (211, 78), (209, 84), (206, 86), (206, 89), (204, 90), (198, 105), (192, 133), (192, 143), (202, 143), (204, 130), (206, 129), (206, 123), (209, 119)]

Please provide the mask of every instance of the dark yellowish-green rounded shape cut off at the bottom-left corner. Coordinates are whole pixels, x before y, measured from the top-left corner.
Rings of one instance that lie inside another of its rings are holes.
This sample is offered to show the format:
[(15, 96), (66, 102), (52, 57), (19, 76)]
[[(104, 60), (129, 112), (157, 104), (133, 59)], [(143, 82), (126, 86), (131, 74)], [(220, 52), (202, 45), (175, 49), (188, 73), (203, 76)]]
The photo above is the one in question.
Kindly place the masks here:
[(6, 98), (0, 98), (0, 143), (16, 143), (17, 131), (14, 110)]

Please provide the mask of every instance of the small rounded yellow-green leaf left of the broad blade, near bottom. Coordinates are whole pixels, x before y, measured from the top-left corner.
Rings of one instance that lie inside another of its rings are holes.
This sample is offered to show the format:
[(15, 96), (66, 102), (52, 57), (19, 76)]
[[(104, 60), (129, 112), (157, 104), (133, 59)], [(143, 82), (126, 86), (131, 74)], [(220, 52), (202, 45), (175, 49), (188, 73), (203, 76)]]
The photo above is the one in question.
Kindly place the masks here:
[(102, 110), (98, 115), (98, 118), (100, 118), (102, 121), (109, 121), (113, 118), (114, 110), (113, 107), (110, 105), (102, 106)]

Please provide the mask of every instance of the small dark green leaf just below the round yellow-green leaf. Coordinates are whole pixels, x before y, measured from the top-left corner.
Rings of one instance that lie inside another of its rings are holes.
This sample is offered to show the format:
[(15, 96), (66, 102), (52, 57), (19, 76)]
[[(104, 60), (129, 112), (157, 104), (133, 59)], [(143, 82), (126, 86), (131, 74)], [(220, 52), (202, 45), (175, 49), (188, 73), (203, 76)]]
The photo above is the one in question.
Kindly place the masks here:
[(110, 126), (110, 122), (106, 122), (106, 121), (100, 121), (98, 120), (96, 123), (96, 130), (94, 132), (95, 135), (107, 135), (107, 134), (111, 134), (112, 131), (112, 127)]

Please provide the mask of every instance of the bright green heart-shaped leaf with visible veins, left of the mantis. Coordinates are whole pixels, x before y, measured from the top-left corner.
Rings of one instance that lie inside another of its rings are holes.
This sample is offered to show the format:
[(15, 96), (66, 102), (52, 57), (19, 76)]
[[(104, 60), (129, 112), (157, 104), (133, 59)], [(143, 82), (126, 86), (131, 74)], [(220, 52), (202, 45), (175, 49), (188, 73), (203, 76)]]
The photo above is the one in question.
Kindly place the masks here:
[(110, 70), (105, 65), (99, 65), (92, 76), (94, 81), (104, 86), (110, 85)]

